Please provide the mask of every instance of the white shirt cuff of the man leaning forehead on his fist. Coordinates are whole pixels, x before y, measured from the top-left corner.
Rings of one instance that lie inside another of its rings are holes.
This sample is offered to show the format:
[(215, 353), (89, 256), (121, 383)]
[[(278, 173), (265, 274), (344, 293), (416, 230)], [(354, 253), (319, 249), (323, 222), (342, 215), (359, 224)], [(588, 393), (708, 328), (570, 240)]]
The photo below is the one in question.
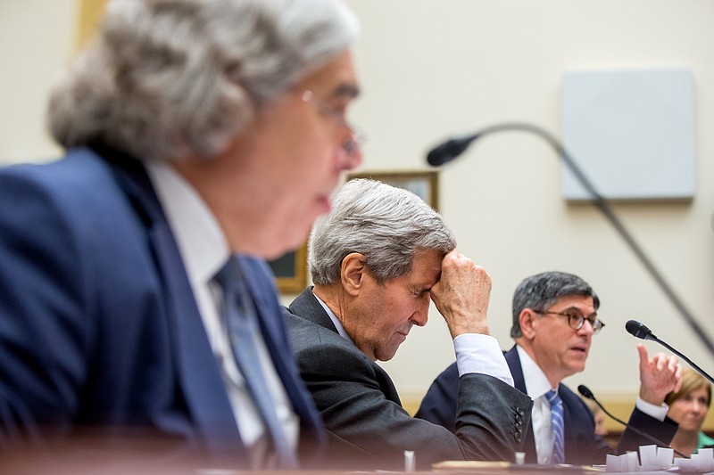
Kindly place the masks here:
[(506, 358), (491, 335), (464, 333), (453, 339), (453, 349), (460, 377), (467, 373), (487, 374), (513, 386)]

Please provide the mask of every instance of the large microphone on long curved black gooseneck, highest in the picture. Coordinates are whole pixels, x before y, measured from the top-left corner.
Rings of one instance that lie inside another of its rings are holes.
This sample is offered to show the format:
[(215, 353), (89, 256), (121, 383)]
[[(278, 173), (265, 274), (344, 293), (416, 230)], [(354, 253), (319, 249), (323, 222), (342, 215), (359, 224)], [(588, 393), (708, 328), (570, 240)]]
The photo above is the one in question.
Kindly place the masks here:
[(478, 138), (485, 135), (494, 134), (496, 132), (502, 131), (521, 131), (530, 132), (531, 134), (538, 135), (543, 138), (545, 142), (550, 143), (552, 148), (558, 152), (560, 159), (569, 168), (572, 174), (577, 178), (577, 181), (583, 185), (585, 190), (593, 198), (594, 206), (602, 211), (604, 217), (610, 221), (615, 230), (619, 233), (620, 237), (627, 243), (630, 250), (635, 254), (635, 257), (640, 260), (644, 268), (649, 272), (654, 279), (655, 283), (660, 286), (660, 290), (664, 292), (665, 296), (669, 299), (672, 305), (677, 309), (679, 315), (684, 318), (685, 323), (687, 323), (692, 330), (692, 332), (699, 338), (702, 345), (709, 349), (711, 356), (714, 356), (714, 344), (711, 342), (707, 334), (702, 330), (702, 327), (697, 323), (696, 319), (693, 317), (692, 313), (686, 308), (684, 302), (677, 297), (677, 293), (671, 288), (671, 286), (664, 279), (664, 276), (657, 270), (657, 267), (652, 264), (652, 260), (647, 257), (640, 246), (635, 242), (635, 238), (627, 231), (625, 225), (619, 220), (619, 217), (615, 214), (615, 211), (610, 206), (610, 201), (607, 201), (597, 190), (595, 190), (594, 185), (588, 180), (587, 176), (581, 171), (577, 166), (575, 160), (570, 157), (570, 154), (565, 150), (562, 144), (544, 128), (535, 125), (521, 123), (521, 122), (506, 122), (502, 124), (496, 124), (494, 126), (485, 127), (473, 135), (466, 135), (461, 138), (452, 138), (444, 143), (437, 145), (431, 152), (428, 152), (427, 161), (428, 164), (433, 167), (439, 167), (448, 163), (455, 158), (457, 158), (461, 153), (465, 152), (469, 145), (473, 143)]

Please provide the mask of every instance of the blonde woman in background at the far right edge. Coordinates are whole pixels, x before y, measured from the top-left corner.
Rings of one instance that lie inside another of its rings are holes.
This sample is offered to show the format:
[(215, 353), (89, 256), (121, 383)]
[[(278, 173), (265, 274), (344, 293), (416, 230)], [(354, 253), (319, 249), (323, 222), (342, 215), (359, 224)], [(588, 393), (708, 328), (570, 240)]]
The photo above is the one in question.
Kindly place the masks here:
[(714, 438), (702, 432), (702, 424), (711, 405), (711, 385), (700, 373), (685, 368), (682, 389), (670, 392), (664, 402), (669, 405), (667, 415), (679, 423), (679, 429), (672, 438), (672, 448), (692, 455), (697, 449), (714, 446)]

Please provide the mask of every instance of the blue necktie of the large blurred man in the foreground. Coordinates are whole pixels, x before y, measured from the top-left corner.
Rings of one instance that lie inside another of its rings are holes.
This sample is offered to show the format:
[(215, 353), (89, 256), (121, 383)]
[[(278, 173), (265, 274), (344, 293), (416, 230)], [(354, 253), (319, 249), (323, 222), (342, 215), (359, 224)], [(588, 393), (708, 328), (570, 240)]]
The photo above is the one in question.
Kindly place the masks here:
[(270, 435), (278, 457), (278, 468), (295, 469), (295, 452), (288, 444), (285, 431), (278, 422), (275, 404), (262, 373), (256, 345), (256, 340), (261, 338), (259, 316), (245, 286), (237, 258), (228, 259), (226, 265), (216, 274), (216, 281), (223, 289), (223, 317), (228, 327), (233, 356)]

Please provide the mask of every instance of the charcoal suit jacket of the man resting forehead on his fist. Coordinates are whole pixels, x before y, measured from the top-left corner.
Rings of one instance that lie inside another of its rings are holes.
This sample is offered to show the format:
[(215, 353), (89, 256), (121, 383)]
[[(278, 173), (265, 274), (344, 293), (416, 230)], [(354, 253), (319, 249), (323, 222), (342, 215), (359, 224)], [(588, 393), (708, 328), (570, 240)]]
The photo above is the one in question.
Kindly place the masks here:
[(336, 331), (311, 288), (293, 301), (287, 331), (300, 373), (330, 436), (330, 459), (352, 470), (401, 469), (404, 450), (419, 467), (443, 460), (511, 460), (533, 405), (491, 376), (468, 374), (458, 389), (455, 435), (404, 411), (386, 372)]

